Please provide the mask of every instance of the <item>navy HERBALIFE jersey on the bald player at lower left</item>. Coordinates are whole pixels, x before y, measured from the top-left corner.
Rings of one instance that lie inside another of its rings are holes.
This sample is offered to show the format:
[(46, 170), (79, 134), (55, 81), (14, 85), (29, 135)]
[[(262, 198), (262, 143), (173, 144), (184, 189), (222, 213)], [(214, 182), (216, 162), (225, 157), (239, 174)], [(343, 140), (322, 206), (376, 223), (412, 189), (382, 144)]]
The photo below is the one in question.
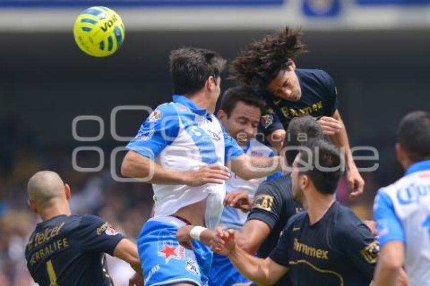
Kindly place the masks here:
[(38, 223), (25, 249), (27, 268), (43, 285), (112, 285), (105, 253), (124, 236), (92, 215), (60, 215)]

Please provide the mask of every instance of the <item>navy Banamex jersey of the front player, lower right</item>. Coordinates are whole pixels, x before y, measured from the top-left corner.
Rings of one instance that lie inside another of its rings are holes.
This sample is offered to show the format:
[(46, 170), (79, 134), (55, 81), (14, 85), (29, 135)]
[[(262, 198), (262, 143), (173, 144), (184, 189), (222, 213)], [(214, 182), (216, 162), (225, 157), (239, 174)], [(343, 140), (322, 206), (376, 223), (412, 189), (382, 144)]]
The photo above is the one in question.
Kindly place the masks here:
[(269, 257), (289, 268), (293, 285), (368, 286), (378, 254), (369, 228), (334, 202), (313, 225), (306, 212), (291, 217)]

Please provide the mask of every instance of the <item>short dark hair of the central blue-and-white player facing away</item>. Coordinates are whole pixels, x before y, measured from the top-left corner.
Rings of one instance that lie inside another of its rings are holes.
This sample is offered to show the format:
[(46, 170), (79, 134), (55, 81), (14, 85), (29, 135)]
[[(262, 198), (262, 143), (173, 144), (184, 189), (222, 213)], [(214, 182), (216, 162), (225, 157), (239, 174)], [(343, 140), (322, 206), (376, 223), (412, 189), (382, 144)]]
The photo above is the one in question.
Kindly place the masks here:
[(203, 88), (209, 76), (218, 79), (226, 60), (217, 52), (183, 47), (170, 52), (170, 75), (177, 94), (193, 94)]

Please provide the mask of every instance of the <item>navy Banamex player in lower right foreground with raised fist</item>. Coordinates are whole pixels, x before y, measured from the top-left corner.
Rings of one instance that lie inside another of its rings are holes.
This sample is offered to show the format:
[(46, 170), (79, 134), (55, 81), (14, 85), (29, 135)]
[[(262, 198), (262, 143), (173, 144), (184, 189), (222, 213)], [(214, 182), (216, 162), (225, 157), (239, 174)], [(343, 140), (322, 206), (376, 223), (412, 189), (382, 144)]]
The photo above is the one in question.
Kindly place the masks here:
[(291, 173), (293, 196), (306, 212), (291, 217), (277, 247), (266, 259), (235, 243), (233, 230), (218, 230), (212, 249), (228, 255), (236, 268), (257, 284), (276, 283), (285, 273), (293, 285), (369, 285), (378, 245), (369, 228), (334, 198), (342, 174), (341, 155), (322, 139), (310, 140)]

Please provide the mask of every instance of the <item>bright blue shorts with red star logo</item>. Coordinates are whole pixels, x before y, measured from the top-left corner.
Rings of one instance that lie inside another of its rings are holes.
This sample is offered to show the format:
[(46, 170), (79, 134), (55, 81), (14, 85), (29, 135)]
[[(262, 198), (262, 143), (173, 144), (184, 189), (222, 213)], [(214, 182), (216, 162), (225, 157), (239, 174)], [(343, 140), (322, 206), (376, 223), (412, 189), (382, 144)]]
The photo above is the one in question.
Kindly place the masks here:
[(186, 225), (174, 217), (149, 219), (138, 237), (145, 286), (189, 282), (208, 285), (212, 251), (198, 241), (193, 250), (179, 245), (176, 231)]

